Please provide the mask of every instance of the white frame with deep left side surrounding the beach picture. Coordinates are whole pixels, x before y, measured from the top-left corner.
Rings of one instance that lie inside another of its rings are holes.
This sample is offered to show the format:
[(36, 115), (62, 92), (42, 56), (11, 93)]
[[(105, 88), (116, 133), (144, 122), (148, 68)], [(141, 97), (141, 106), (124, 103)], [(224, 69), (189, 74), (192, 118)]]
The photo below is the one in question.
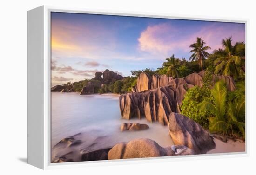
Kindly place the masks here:
[[(237, 22), (245, 23), (246, 40), (248, 39), (249, 19), (226, 19), (198, 16), (179, 16), (169, 14), (149, 14), (134, 12), (112, 12), (112, 11), (91, 11), (87, 9), (61, 8), (55, 6), (40, 6), (28, 11), (28, 163), (40, 169), (55, 169), (62, 167), (85, 167), (85, 166), (104, 166), (112, 164), (134, 164), (144, 162), (166, 162), (180, 161), (188, 159), (212, 159), (222, 157), (249, 156), (249, 116), (248, 94), (246, 93), (246, 149), (240, 153), (219, 153), (211, 155), (191, 155), (191, 156), (175, 156), (175, 157), (154, 157), (154, 158), (136, 158), (114, 161), (92, 161), (92, 162), (66, 162), (51, 163), (51, 48), (50, 48), (50, 13), (51, 12), (67, 12), (67, 13), (89, 13), (89, 14), (105, 14), (119, 16), (135, 16), (135, 17), (154, 17), (167, 19), (193, 19), (204, 21), (220, 21), (220, 22)], [(247, 43), (247, 42), (246, 42)], [(248, 53), (246, 45), (246, 54)], [(248, 54), (247, 54), (248, 55)], [(246, 58), (246, 64), (249, 63)], [(246, 81), (249, 66), (246, 69)], [(246, 92), (248, 92), (246, 86)]]

